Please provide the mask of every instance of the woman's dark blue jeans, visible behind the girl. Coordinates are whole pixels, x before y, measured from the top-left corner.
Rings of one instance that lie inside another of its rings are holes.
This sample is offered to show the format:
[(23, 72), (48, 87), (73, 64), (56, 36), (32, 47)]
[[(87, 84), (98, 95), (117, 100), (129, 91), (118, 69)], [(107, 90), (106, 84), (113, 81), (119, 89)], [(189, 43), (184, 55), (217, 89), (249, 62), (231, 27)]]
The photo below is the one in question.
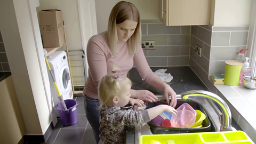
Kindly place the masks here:
[(88, 97), (87, 95), (83, 95), (84, 97), (84, 110), (86, 117), (92, 126), (92, 131), (94, 134), (95, 141), (99, 143), (100, 141), (100, 122), (99, 122), (99, 110), (97, 107), (100, 105), (100, 100), (93, 99)]

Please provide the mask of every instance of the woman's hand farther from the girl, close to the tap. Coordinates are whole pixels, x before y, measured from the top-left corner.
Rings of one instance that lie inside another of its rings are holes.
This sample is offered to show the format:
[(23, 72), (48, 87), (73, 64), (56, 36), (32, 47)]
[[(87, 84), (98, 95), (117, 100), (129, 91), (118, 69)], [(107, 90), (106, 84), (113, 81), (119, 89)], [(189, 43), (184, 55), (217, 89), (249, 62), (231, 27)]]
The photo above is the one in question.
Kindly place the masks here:
[[(170, 103), (169, 95), (171, 96), (171, 103)], [(177, 105), (176, 93), (173, 91), (172, 87), (168, 84), (164, 86), (164, 97), (168, 105), (170, 105), (173, 108), (176, 107)]]

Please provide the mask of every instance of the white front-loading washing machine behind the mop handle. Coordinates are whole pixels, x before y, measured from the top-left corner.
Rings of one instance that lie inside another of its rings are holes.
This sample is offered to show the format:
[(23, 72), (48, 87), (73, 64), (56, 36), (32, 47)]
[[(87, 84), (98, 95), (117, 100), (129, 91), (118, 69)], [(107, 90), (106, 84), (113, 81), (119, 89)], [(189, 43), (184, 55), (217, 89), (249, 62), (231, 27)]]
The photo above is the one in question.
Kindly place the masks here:
[[(53, 77), (55, 78), (55, 81), (57, 83), (60, 93), (62, 94), (63, 99), (64, 100), (73, 99), (73, 91), (71, 89), (72, 88), (71, 78), (70, 78), (66, 52), (55, 51), (54, 53), (50, 54), (49, 57), (47, 57), (47, 60), (52, 69)], [(52, 93), (52, 98), (54, 102), (55, 114), (57, 115), (57, 117), (59, 117), (60, 116), (59, 111), (55, 106), (60, 102), (60, 100), (58, 99), (58, 93), (53, 84), (53, 79), (51, 77), (49, 70), (48, 70), (48, 75), (49, 75), (49, 81), (51, 85), (50, 87), (51, 87), (51, 93)]]

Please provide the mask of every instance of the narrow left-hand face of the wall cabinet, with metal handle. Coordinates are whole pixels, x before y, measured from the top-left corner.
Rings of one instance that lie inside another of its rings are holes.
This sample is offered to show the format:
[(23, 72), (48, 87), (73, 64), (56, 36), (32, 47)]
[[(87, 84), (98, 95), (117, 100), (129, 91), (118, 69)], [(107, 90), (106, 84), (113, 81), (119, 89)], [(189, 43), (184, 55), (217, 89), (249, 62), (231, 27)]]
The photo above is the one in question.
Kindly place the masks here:
[(169, 25), (169, 0), (159, 0), (159, 20)]

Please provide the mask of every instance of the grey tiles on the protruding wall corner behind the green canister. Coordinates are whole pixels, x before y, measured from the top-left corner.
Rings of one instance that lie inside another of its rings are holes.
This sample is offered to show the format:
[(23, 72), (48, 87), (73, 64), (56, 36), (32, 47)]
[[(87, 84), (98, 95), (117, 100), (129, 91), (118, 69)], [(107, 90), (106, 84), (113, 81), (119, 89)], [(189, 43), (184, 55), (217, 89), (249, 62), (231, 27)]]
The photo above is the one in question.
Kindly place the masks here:
[[(225, 74), (225, 61), (236, 60), (246, 49), (248, 33), (247, 26), (191, 26), (190, 68), (198, 76)], [(196, 44), (202, 47), (201, 58), (194, 52)]]

